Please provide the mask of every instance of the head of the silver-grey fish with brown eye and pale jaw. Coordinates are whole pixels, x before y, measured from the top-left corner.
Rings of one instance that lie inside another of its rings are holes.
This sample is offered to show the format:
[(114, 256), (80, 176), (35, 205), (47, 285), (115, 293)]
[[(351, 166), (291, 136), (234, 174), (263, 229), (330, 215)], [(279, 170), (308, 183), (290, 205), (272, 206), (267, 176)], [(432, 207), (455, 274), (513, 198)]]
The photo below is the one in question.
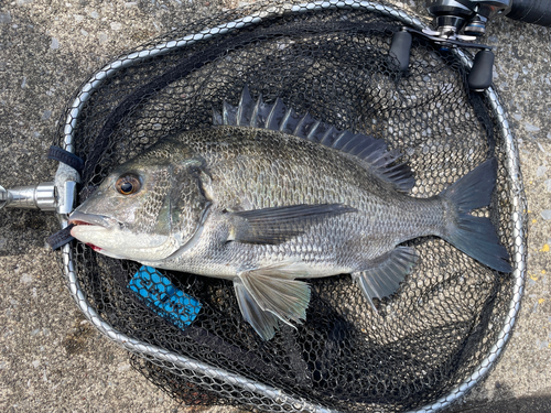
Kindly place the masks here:
[(185, 246), (208, 208), (203, 160), (164, 140), (112, 171), (69, 216), (71, 235), (109, 257), (154, 263)]

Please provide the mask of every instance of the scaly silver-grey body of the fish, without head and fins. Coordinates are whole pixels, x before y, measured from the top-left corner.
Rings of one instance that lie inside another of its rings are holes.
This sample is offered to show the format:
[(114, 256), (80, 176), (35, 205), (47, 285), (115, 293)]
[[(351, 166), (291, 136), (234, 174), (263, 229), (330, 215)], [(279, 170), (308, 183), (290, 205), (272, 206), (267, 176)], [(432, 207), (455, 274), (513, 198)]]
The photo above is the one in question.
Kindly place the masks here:
[[(359, 162), (313, 142), (239, 127), (191, 132), (180, 139), (205, 160), (201, 185), (213, 207), (194, 251), (197, 256), (176, 254), (163, 265), (233, 276), (235, 270), (228, 271), (228, 267), (255, 269), (259, 265), (255, 261), (272, 261), (276, 256), (315, 265), (309, 276), (320, 272), (333, 275), (335, 271), (356, 271), (366, 260), (404, 240), (439, 233), (444, 224), (440, 199), (396, 192)], [(318, 204), (341, 204), (355, 211), (326, 218), (315, 229), (281, 244), (227, 243), (231, 230), (228, 213)], [(225, 243), (217, 244), (217, 237)], [(199, 252), (199, 248), (205, 250)]]

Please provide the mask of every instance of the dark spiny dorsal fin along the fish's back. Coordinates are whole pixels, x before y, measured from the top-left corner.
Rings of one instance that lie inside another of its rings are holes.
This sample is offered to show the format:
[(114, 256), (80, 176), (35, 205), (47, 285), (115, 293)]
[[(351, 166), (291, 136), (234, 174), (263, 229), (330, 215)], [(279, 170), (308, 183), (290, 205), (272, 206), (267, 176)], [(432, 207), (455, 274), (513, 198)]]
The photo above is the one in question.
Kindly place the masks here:
[(213, 123), (293, 134), (358, 157), (397, 191), (409, 192), (415, 184), (410, 167), (406, 163), (395, 163), (401, 153), (397, 150), (389, 151), (385, 141), (363, 133), (339, 131), (312, 118), (307, 112), (298, 115), (292, 108), (288, 109), (280, 98), (273, 105), (267, 105), (262, 101), (262, 95), (259, 95), (255, 101), (247, 86), (242, 89), (237, 108), (224, 100), (222, 115), (213, 109)]

